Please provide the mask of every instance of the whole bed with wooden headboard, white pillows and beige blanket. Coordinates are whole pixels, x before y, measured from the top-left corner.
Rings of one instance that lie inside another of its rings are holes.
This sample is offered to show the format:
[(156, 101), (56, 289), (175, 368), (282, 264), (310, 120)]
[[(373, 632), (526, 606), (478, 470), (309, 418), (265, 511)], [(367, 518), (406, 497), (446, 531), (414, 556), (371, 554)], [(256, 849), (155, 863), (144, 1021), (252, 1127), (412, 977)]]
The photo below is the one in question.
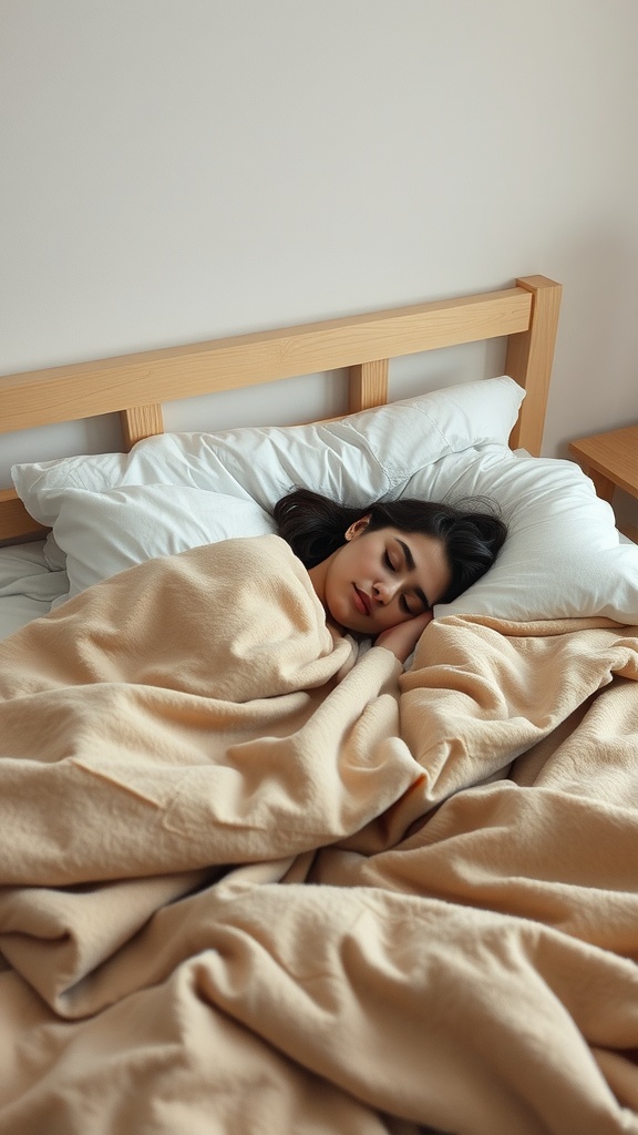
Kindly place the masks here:
[[(638, 1132), (638, 548), (539, 456), (560, 297), (0, 379), (6, 432), (123, 431), (0, 493), (3, 1135)], [(484, 339), (503, 375), (387, 401)], [(338, 419), (163, 431), (331, 369)], [(300, 484), (488, 496), (507, 540), (349, 667), (272, 535)]]

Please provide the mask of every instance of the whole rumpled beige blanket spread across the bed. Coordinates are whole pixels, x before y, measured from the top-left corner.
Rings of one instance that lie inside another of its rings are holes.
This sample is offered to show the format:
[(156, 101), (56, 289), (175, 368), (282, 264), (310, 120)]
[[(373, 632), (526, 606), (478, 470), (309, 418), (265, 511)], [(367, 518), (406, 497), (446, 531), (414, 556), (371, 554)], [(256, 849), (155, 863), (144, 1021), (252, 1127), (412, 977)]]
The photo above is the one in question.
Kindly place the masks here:
[(638, 1133), (638, 628), (352, 650), (276, 537), (0, 644), (2, 1135)]

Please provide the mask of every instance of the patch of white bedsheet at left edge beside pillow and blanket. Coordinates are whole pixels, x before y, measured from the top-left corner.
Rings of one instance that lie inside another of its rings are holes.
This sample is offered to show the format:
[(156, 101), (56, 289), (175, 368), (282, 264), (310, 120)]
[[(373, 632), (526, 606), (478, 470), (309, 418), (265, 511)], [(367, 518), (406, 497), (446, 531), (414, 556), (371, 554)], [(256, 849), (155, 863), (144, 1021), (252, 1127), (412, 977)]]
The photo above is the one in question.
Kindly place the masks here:
[(45, 615), (68, 591), (65, 571), (51, 571), (43, 540), (0, 548), (0, 638)]

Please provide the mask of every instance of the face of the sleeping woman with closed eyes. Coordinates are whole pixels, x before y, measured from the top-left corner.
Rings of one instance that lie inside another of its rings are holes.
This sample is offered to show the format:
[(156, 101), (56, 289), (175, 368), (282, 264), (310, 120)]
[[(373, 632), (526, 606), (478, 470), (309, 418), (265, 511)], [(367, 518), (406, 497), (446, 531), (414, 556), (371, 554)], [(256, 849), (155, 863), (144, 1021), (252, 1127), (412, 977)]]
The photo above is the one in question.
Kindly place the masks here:
[(368, 519), (349, 528), (346, 543), (310, 578), (336, 623), (375, 637), (438, 603), (451, 573), (442, 540), (397, 528), (369, 531)]

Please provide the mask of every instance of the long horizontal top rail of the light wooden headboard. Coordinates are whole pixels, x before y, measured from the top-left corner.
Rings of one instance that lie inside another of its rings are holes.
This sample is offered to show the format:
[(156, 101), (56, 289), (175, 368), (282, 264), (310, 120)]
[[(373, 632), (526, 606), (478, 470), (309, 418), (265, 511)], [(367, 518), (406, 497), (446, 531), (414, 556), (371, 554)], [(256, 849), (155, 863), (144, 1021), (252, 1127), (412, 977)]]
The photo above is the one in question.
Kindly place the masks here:
[(0, 378), (0, 431), (75, 421), (511, 335), (529, 326), (524, 288), (145, 351)]

